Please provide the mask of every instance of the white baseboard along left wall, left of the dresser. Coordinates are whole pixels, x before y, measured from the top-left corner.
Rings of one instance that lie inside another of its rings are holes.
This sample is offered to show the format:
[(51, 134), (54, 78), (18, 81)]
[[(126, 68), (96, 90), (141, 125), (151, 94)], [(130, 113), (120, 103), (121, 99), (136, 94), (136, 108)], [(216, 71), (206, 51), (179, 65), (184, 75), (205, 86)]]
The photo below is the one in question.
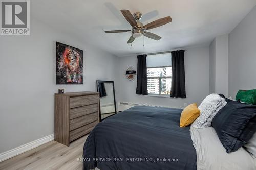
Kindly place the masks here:
[(26, 143), (24, 145), (21, 145), (17, 148), (0, 153), (0, 162), (4, 161), (6, 159), (9, 159), (11, 157), (14, 157), (16, 155), (22, 154), (26, 151), (33, 149), (33, 148), (39, 147), (39, 145), (45, 144), (52, 140), (54, 140), (54, 134), (45, 136), (43, 138), (40, 138), (40, 139), (34, 140), (32, 142)]

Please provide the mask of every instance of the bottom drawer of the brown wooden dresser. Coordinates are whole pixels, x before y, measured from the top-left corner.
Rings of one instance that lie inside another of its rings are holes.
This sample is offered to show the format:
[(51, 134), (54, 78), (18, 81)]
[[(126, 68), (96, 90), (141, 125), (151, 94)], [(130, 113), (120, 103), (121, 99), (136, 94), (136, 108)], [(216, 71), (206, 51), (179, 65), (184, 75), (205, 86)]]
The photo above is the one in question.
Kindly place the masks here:
[(73, 141), (83, 135), (88, 134), (89, 132), (91, 132), (93, 130), (93, 128), (98, 124), (98, 121), (92, 122), (88, 125), (82, 126), (80, 128), (77, 128), (73, 131), (70, 131), (70, 137), (69, 137), (69, 141)]

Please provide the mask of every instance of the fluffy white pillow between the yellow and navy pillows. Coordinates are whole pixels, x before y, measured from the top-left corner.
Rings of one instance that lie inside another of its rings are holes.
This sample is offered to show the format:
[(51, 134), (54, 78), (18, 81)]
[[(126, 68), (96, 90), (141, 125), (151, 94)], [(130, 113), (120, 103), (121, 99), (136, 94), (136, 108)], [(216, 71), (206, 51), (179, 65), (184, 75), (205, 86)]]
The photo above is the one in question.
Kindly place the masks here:
[(200, 116), (191, 125), (194, 128), (211, 126), (212, 119), (227, 104), (226, 100), (218, 94), (208, 95), (198, 107)]

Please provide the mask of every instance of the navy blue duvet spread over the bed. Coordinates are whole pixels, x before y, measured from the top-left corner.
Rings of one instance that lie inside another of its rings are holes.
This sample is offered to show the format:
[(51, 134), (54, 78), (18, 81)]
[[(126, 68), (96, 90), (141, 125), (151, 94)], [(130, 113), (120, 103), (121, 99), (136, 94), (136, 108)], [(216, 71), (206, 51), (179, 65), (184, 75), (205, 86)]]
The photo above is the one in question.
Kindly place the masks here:
[(136, 106), (99, 123), (83, 147), (83, 169), (196, 170), (189, 127), (181, 109)]

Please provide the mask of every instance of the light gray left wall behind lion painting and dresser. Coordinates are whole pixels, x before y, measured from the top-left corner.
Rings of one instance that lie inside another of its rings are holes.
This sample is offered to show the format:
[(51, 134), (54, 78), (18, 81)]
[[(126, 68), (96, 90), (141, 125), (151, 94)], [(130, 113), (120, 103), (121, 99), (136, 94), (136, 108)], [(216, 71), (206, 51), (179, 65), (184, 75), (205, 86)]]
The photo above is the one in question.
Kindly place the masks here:
[[(55, 85), (55, 41), (84, 50), (84, 84)], [(118, 87), (118, 57), (31, 20), (30, 36), (0, 37), (0, 153), (54, 132), (54, 93)], [(116, 88), (116, 92), (118, 88)]]

